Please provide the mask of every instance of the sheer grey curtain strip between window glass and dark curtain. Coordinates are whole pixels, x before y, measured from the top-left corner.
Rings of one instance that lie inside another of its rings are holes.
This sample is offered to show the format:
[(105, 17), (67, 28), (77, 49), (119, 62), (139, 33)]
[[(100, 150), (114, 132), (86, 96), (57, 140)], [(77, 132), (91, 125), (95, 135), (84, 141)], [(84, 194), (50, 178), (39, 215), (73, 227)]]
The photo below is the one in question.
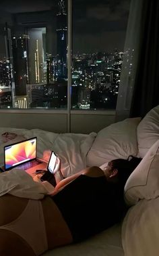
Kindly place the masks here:
[(134, 78), (139, 62), (139, 44), (141, 36), (141, 14), (145, 0), (131, 0), (127, 34), (123, 54), (120, 86), (117, 98), (116, 121), (129, 118)]

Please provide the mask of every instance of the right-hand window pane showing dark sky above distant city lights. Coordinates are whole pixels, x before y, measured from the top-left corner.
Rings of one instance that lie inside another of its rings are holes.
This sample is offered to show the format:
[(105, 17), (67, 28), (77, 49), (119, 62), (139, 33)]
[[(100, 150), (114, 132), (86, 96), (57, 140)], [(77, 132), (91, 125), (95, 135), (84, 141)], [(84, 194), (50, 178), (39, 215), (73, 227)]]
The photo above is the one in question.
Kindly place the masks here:
[(72, 109), (115, 109), (129, 0), (73, 0)]

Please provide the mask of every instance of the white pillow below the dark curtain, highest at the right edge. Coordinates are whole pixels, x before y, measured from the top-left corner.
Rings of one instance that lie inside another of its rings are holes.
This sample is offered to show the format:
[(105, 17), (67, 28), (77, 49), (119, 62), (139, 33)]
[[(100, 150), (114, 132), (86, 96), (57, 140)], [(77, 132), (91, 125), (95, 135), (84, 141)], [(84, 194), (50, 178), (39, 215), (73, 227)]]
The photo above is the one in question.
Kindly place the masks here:
[(156, 140), (159, 140), (159, 105), (152, 108), (137, 127), (138, 156), (143, 158)]

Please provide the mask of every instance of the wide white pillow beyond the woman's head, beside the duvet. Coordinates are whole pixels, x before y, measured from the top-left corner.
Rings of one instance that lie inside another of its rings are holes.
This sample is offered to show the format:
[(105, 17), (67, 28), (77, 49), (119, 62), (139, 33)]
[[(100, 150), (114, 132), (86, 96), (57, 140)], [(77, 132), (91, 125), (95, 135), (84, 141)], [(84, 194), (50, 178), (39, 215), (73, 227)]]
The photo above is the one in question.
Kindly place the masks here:
[(87, 155), (88, 166), (100, 166), (115, 158), (137, 155), (136, 129), (140, 118), (113, 123), (98, 132)]

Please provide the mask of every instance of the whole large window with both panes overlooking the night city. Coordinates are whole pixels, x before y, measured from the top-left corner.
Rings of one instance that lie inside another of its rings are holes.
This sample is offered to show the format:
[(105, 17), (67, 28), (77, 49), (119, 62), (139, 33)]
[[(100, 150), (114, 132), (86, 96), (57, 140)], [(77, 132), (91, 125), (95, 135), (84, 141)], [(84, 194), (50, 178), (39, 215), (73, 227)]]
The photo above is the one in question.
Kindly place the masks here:
[[(71, 108), (114, 109), (129, 0), (72, 3)], [(0, 108), (67, 108), (67, 5), (67, 0), (1, 3)]]

